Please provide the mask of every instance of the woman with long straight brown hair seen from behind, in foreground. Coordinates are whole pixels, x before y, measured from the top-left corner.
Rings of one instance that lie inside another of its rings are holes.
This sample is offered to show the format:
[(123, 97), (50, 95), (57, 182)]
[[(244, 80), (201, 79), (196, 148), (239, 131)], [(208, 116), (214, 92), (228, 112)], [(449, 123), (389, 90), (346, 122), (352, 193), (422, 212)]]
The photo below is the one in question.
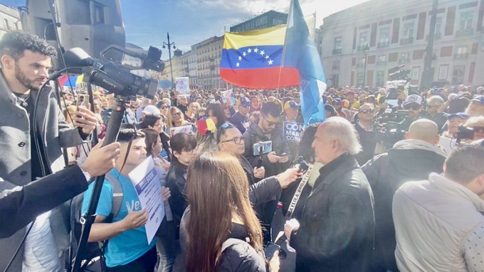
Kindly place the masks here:
[[(261, 224), (236, 157), (223, 152), (201, 154), (189, 166), (186, 195), (187, 271), (268, 271)], [(240, 241), (223, 246), (229, 238)], [(270, 268), (278, 271), (277, 253)]]

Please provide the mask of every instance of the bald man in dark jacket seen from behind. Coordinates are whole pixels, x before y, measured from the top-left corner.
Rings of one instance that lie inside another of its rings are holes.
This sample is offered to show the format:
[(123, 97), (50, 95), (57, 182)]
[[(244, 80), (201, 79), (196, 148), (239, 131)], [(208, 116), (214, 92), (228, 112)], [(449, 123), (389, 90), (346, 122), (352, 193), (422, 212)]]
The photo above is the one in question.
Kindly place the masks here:
[(372, 186), (375, 210), (375, 267), (373, 271), (398, 271), (395, 261), (395, 231), (391, 202), (396, 190), (407, 181), (426, 180), (441, 173), (445, 154), (436, 146), (438, 126), (428, 119), (411, 123), (406, 139), (395, 143), (387, 153), (362, 166)]

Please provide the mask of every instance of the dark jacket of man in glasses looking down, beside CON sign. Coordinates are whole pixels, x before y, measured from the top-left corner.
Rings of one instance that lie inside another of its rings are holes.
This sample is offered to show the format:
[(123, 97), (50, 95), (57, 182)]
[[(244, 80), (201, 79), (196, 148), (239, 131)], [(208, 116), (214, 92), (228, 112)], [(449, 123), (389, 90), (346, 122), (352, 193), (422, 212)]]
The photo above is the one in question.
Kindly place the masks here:
[[(243, 156), (247, 158), (247, 161), (251, 163), (253, 167), (257, 166), (259, 159), (259, 156), (253, 156), (254, 143), (258, 143), (260, 141), (272, 141), (272, 150), (275, 151), (277, 155), (282, 153), (290, 154), (288, 143), (284, 141), (282, 126), (276, 126), (275, 130), (272, 131), (270, 136), (266, 136), (262, 129), (258, 126), (259, 121), (259, 119), (254, 121), (243, 134), (245, 137), (244, 143), (246, 148)], [(283, 173), (286, 169), (288, 169), (289, 165), (290, 161), (288, 161), (288, 163), (270, 163), (267, 158), (267, 154), (263, 154), (262, 156), (262, 166), (265, 168), (265, 176)]]

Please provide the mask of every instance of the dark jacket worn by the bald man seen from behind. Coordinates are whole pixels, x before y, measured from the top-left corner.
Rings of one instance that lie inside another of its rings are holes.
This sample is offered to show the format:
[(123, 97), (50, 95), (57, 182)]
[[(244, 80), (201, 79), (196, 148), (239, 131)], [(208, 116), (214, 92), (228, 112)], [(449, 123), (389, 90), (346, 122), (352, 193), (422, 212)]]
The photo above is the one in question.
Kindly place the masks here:
[(426, 180), (432, 172), (441, 173), (445, 157), (422, 149), (391, 148), (362, 166), (372, 186), (375, 201), (374, 271), (398, 271), (395, 261), (395, 229), (391, 202), (406, 181)]

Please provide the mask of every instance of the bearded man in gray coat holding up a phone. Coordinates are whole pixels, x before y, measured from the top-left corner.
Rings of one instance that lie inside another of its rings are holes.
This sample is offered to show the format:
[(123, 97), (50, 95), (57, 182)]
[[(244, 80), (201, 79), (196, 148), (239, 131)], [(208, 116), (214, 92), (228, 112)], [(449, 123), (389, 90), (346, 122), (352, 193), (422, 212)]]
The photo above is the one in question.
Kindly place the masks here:
[[(49, 86), (40, 89), (48, 80), (54, 57), (56, 49), (37, 36), (11, 32), (0, 40), (0, 176), (14, 185), (26, 185), (64, 168), (62, 148), (84, 143), (95, 128), (95, 115), (88, 109), (74, 114), (76, 127), (70, 128), (58, 108), (53, 89)], [(33, 124), (37, 97), (37, 121)], [(14, 263), (12, 271), (20, 266), (23, 271), (31, 268), (61, 271), (58, 251), (67, 249), (68, 232), (58, 229), (64, 225), (60, 224), (61, 214), (56, 214), (56, 210), (52, 213), (35, 221), (26, 236), (25, 248), (20, 251), (22, 263)], [(24, 235), (25, 229), (21, 229), (0, 240), (0, 257), (11, 258)]]

